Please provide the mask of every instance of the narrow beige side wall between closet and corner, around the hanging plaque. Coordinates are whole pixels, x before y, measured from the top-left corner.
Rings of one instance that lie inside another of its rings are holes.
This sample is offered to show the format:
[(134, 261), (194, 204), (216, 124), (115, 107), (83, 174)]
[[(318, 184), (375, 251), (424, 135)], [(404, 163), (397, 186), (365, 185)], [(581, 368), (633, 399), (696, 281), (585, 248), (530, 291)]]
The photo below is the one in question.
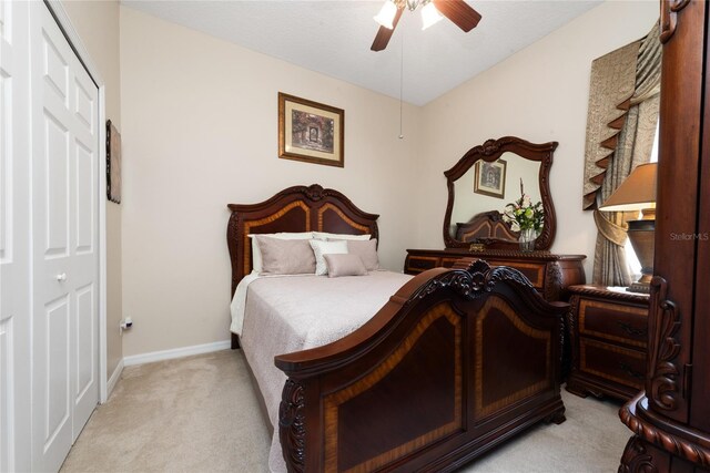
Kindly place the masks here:
[[(106, 120), (121, 130), (121, 76), (119, 68), (119, 2), (63, 0), (72, 25), (105, 83)], [(121, 206), (106, 203), (106, 377), (123, 358), (119, 335), (121, 294)]]

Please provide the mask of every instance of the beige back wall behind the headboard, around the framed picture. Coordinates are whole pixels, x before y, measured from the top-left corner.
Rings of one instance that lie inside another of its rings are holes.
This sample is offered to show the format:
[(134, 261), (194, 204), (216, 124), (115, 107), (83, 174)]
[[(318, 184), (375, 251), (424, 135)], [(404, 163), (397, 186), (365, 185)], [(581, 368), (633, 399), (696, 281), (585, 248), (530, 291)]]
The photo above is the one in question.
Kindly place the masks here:
[[(382, 264), (416, 241), (418, 110), (121, 8), (125, 356), (227, 340), (227, 203), (318, 183), (381, 214)], [(345, 167), (277, 157), (277, 92), (345, 110)]]

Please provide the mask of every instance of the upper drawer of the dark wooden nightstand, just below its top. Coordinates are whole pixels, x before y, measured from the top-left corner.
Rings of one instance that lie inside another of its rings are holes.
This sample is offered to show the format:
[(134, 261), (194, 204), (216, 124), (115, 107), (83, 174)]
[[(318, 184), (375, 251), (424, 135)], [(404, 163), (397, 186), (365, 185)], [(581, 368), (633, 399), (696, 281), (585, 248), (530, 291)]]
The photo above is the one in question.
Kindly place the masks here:
[(648, 343), (648, 308), (581, 298), (579, 335), (645, 349)]

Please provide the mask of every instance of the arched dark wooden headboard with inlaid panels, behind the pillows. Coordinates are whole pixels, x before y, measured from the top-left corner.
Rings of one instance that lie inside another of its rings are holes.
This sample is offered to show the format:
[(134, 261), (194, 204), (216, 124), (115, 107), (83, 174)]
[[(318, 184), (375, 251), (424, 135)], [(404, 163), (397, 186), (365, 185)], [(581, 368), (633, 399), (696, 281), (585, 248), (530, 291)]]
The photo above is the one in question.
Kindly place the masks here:
[(361, 210), (337, 191), (311, 186), (288, 187), (258, 204), (229, 204), (232, 210), (226, 241), (232, 260), (232, 294), (252, 270), (250, 234), (329, 232), (378, 237), (379, 215)]

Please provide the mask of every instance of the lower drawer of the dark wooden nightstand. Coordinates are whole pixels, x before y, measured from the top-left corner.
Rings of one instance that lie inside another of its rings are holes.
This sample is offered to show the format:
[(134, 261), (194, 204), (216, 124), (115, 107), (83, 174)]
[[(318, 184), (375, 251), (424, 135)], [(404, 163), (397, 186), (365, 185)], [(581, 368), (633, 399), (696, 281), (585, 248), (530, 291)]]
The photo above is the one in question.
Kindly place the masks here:
[(582, 338), (579, 371), (640, 391), (646, 381), (646, 353)]

